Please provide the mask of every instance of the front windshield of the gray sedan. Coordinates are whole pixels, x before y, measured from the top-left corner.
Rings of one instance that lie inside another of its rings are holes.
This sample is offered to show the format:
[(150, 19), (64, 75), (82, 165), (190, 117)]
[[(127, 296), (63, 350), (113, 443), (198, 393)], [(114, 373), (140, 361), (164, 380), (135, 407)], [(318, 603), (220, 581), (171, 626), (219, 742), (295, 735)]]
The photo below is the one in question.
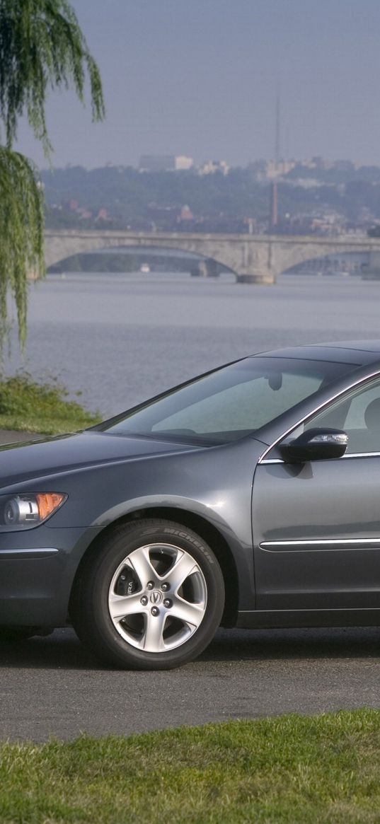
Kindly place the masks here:
[(226, 443), (256, 432), (354, 368), (348, 363), (246, 358), (96, 428), (204, 445)]

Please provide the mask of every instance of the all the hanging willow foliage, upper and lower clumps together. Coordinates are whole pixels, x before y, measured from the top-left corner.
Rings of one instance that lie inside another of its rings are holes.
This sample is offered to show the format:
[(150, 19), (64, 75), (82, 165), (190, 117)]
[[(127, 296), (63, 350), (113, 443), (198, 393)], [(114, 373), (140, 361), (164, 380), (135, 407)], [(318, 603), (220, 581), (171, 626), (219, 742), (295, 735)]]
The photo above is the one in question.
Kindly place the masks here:
[(12, 152), (26, 115), (49, 156), (48, 91), (73, 87), (84, 99), (90, 78), (92, 116), (104, 117), (99, 69), (67, 0), (0, 0), (0, 349), (7, 330), (7, 292), (16, 302), (21, 347), (26, 341), (27, 278), (44, 274), (43, 194), (30, 161)]

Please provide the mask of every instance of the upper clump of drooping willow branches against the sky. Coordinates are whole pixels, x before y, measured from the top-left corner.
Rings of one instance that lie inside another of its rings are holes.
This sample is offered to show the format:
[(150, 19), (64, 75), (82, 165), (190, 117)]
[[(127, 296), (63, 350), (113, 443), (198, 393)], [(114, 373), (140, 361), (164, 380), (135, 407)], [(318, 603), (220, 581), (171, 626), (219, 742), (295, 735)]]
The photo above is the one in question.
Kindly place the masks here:
[(84, 101), (86, 69), (92, 117), (105, 115), (101, 76), (67, 0), (0, 0), (0, 115), (7, 147), (26, 115), (49, 154), (45, 105), (49, 88), (73, 87)]

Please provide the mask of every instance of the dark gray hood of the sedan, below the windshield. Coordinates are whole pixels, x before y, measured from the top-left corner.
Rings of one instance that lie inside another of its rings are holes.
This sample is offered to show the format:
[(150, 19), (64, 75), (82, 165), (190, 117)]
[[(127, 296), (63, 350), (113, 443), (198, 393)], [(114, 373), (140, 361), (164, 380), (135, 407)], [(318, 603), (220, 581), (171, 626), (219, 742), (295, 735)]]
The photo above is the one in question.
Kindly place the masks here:
[(199, 446), (152, 438), (82, 432), (0, 447), (0, 488), (44, 475), (113, 461), (188, 452)]

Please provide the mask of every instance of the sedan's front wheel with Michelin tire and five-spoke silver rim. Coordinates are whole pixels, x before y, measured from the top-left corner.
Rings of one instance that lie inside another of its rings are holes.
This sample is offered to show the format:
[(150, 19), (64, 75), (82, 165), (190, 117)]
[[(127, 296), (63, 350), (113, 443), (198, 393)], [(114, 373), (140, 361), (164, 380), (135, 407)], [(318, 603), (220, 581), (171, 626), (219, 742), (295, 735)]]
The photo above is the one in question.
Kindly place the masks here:
[(152, 519), (115, 527), (87, 556), (70, 616), (97, 658), (163, 670), (207, 647), (223, 606), (223, 574), (209, 545), (181, 524)]

